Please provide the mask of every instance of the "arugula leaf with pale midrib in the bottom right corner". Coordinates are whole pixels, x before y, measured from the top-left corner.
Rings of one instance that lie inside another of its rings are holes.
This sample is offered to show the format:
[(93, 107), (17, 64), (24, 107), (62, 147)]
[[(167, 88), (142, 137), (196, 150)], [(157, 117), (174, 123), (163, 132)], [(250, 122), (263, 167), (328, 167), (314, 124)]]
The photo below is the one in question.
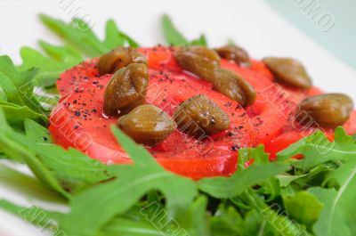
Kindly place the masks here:
[(338, 191), (321, 188), (309, 190), (324, 204), (314, 231), (323, 236), (352, 236), (356, 232), (356, 159), (331, 172), (326, 181), (331, 179), (339, 183)]

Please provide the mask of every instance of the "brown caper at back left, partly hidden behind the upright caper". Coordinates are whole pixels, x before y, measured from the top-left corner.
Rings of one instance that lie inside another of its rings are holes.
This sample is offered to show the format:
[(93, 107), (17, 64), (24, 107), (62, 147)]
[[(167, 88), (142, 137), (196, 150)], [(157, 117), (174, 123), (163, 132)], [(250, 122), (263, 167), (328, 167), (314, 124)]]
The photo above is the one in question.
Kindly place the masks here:
[(113, 74), (131, 63), (147, 65), (147, 59), (134, 48), (118, 47), (101, 56), (98, 63), (99, 75)]

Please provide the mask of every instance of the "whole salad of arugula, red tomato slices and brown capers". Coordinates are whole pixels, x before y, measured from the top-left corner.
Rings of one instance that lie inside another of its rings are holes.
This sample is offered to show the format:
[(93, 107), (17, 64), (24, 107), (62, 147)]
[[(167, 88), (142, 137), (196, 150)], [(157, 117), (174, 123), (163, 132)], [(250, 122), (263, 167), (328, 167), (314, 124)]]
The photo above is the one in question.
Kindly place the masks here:
[(0, 168), (69, 210), (0, 208), (53, 235), (356, 233), (356, 111), (300, 61), (211, 48), (167, 15), (154, 47), (40, 19), (64, 45), (0, 56), (0, 158), (33, 175)]

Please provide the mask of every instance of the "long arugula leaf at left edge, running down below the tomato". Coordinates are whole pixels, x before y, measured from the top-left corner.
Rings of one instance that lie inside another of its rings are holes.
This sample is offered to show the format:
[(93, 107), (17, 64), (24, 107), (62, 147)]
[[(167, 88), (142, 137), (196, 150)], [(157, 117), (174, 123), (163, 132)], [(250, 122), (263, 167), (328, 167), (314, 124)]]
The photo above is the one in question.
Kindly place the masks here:
[(113, 176), (105, 165), (80, 151), (65, 151), (61, 146), (50, 144), (48, 131), (34, 121), (25, 121), (26, 136), (14, 132), (4, 120), (0, 119), (0, 122), (4, 126), (4, 132), (0, 134), (2, 151), (13, 159), (26, 162), (39, 179), (66, 197), (69, 194), (59, 183), (67, 190), (77, 192)]

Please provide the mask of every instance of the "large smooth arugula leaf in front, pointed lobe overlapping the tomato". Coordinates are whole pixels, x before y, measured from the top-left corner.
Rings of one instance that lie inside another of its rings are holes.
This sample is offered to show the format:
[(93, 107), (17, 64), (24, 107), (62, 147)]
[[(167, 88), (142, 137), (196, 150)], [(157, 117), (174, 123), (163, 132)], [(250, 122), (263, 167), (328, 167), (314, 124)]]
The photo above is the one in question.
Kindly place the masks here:
[(134, 165), (110, 166), (109, 170), (118, 176), (116, 180), (102, 183), (73, 198), (71, 211), (61, 222), (61, 228), (69, 234), (94, 235), (113, 216), (125, 213), (151, 190), (161, 191), (166, 196), (170, 216), (182, 215), (198, 193), (193, 181), (167, 172), (141, 145), (115, 126), (112, 131), (117, 142), (134, 160)]

